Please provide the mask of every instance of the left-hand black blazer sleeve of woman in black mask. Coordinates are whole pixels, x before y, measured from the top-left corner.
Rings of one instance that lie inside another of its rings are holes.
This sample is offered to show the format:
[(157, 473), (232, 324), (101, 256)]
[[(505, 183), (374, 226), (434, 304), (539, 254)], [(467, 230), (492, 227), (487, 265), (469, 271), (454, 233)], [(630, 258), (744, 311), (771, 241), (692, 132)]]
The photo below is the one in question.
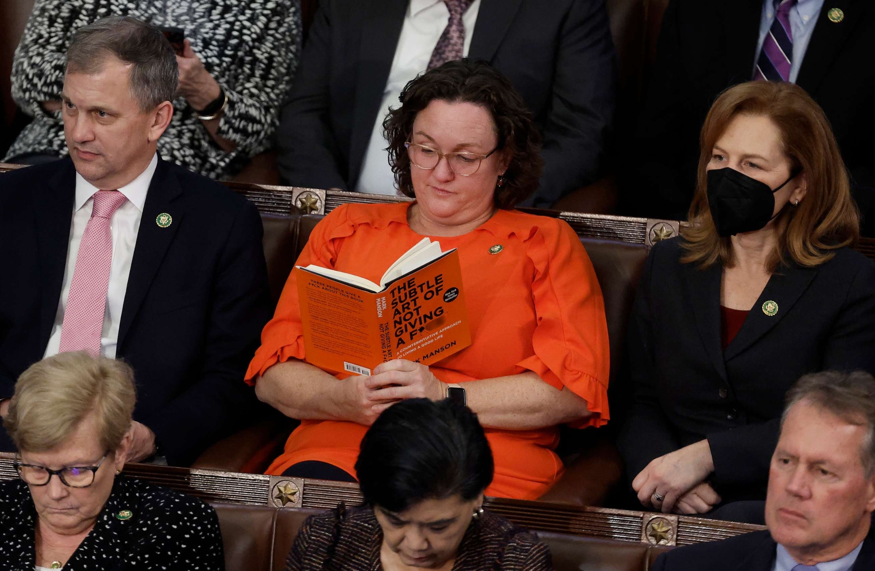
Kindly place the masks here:
[(620, 431), (618, 444), (630, 480), (638, 476), (654, 458), (681, 448), (660, 405), (654, 363), (655, 325), (650, 296), (658, 250), (655, 248), (651, 251), (641, 273), (641, 285), (628, 332), (627, 355), (634, 386), (634, 404), (626, 425)]

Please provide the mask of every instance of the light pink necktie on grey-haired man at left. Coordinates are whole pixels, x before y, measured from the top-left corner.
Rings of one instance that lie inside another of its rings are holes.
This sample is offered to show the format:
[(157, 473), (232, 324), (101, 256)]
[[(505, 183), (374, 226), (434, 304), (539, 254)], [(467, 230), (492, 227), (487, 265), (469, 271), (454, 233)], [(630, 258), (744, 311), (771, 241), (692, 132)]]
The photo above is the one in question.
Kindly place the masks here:
[(97, 357), (101, 352), (103, 314), (112, 267), (109, 220), (127, 198), (119, 191), (97, 191), (94, 198), (94, 209), (82, 233), (73, 268), (73, 282), (60, 331), (60, 352), (88, 351)]

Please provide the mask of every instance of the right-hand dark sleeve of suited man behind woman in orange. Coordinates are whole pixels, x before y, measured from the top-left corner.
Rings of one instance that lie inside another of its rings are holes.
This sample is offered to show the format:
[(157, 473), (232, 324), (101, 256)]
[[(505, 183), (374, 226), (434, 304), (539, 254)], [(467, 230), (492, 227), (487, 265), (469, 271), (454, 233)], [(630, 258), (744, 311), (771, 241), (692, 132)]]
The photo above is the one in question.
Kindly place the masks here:
[(559, 31), (543, 126), (544, 171), (532, 205), (549, 207), (598, 177), (616, 95), (616, 52), (604, 0), (578, 0)]

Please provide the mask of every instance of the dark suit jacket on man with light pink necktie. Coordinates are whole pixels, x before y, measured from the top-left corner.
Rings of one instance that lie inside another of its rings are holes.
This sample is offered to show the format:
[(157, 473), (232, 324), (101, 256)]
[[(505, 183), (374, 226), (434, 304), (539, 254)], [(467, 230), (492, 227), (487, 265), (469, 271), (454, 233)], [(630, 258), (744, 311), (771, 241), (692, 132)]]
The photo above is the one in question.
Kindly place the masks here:
[[(18, 375), (45, 352), (74, 196), (69, 158), (0, 175), (0, 397), (10, 397)], [(155, 223), (162, 212), (171, 226)], [(270, 317), (261, 240), (261, 218), (248, 200), (158, 161), (116, 357), (134, 368), (134, 419), (155, 432), (170, 463), (191, 463), (257, 407), (243, 373)]]

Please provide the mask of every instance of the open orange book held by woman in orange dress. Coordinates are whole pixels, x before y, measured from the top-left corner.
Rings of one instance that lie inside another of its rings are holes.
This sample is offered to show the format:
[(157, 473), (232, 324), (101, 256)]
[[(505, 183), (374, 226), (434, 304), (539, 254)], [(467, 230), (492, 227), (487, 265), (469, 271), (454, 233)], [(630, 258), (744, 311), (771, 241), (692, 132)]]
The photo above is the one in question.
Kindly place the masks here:
[(293, 271), (312, 365), (370, 375), (388, 360), (431, 365), (471, 345), (455, 249), (441, 252), (439, 243), (424, 239), (380, 284), (316, 266)]

